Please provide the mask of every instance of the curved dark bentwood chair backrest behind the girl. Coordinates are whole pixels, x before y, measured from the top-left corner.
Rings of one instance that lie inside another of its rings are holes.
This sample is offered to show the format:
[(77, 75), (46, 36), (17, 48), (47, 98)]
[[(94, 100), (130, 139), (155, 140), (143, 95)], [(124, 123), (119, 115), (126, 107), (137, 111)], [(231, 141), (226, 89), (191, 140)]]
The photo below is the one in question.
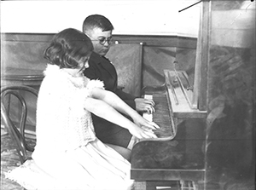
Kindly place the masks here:
[[(38, 98), (38, 90), (29, 86), (5, 86), (1, 88), (1, 118), (5, 129), (15, 141), (16, 150), (20, 157), (20, 162), (23, 164), (29, 158), (27, 151), (33, 152), (35, 146), (35, 138), (29, 138), (26, 135), (26, 118), (27, 118), (27, 95)], [(17, 104), (10, 103), (11, 101)], [(15, 107), (12, 107), (15, 106)], [(21, 107), (21, 109), (19, 109)], [(19, 113), (19, 119), (15, 120), (12, 115), (12, 110)], [(35, 112), (35, 111), (34, 111)]]

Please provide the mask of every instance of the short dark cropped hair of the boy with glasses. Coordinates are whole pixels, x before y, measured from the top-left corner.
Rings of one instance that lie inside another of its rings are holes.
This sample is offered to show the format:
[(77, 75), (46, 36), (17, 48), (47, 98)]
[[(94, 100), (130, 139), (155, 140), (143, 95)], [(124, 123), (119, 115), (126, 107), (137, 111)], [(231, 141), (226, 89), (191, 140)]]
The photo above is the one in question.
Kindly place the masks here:
[(112, 23), (103, 15), (91, 14), (86, 17), (83, 23), (83, 32), (93, 30), (94, 28), (101, 28), (102, 32), (113, 31)]

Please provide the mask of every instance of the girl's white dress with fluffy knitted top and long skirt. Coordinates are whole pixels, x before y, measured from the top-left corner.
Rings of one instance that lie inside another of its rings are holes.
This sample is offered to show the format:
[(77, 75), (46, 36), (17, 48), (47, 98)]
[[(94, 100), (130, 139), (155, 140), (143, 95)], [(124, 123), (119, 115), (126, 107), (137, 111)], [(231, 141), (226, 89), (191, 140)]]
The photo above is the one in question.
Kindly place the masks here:
[(84, 100), (103, 83), (48, 65), (38, 94), (32, 160), (10, 171), (27, 189), (130, 189), (131, 164), (96, 138)]

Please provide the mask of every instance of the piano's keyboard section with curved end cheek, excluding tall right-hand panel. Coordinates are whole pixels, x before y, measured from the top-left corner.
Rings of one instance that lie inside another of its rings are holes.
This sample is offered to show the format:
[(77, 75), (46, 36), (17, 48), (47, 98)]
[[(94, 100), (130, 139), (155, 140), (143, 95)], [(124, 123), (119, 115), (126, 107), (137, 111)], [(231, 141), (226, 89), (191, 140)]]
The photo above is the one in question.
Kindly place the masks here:
[(164, 72), (164, 85), (143, 90), (144, 97), (155, 102), (155, 112), (144, 113), (143, 117), (159, 124), (160, 129), (154, 130), (158, 138), (139, 141), (132, 148), (131, 178), (140, 190), (163, 185), (202, 189), (207, 112), (192, 107), (189, 83), (182, 83), (187, 81), (183, 71)]

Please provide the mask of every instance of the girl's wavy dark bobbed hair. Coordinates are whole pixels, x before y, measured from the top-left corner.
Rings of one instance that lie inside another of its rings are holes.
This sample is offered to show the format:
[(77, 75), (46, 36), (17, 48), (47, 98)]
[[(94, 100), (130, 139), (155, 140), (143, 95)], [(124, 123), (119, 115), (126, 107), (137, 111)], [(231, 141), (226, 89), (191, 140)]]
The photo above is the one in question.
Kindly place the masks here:
[(89, 37), (79, 30), (67, 28), (55, 34), (49, 47), (44, 50), (44, 58), (49, 64), (60, 68), (77, 68), (79, 60), (90, 55), (92, 50)]

